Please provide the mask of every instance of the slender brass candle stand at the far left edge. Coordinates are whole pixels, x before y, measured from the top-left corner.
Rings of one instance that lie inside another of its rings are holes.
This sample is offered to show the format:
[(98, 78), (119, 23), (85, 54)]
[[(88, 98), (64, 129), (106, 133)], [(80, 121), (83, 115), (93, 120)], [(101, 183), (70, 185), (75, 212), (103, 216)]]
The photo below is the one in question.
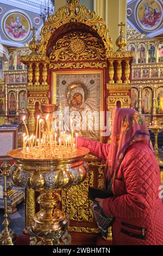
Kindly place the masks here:
[(0, 245), (14, 245), (16, 242), (16, 234), (8, 228), (9, 220), (7, 214), (7, 176), (9, 176), (10, 173), (10, 164), (3, 162), (1, 169), (2, 174), (4, 175), (4, 229), (0, 234)]

